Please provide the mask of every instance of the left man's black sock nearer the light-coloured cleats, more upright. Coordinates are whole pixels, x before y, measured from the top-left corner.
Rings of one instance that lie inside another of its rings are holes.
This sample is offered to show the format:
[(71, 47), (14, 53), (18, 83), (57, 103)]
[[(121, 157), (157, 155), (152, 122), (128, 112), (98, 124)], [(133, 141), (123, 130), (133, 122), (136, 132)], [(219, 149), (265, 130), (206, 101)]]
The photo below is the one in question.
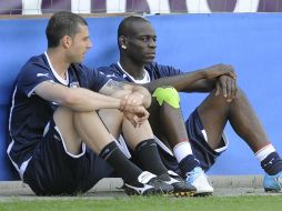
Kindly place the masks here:
[(144, 170), (157, 175), (168, 172), (168, 169), (162, 163), (157, 143), (153, 139), (141, 141), (135, 148), (135, 153)]

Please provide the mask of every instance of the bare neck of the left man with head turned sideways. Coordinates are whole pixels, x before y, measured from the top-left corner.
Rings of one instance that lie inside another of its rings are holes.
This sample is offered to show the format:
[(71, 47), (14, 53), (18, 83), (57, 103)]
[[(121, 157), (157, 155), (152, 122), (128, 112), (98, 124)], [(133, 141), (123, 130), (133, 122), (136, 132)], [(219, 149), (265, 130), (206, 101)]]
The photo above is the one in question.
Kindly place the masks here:
[(48, 49), (47, 54), (54, 71), (62, 78), (66, 79), (66, 72), (68, 71), (70, 63), (67, 62), (64, 53), (59, 49)]

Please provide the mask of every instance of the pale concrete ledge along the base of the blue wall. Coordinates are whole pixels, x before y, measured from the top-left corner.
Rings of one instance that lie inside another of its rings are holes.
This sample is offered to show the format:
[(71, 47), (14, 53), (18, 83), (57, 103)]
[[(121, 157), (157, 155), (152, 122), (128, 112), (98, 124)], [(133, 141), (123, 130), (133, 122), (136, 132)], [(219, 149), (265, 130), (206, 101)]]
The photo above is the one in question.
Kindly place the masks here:
[[(243, 194), (262, 191), (262, 175), (210, 175), (209, 180), (216, 194)], [(83, 197), (124, 195), (120, 178), (100, 180)], [(235, 190), (232, 190), (235, 189)], [(21, 181), (0, 181), (0, 197), (34, 197)]]

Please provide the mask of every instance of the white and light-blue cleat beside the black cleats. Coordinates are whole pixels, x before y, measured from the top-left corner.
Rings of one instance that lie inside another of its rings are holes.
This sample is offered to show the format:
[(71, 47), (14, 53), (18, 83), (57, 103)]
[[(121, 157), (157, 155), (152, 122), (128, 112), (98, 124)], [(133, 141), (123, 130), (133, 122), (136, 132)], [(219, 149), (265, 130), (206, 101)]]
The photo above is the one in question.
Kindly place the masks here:
[(213, 188), (208, 181), (202, 168), (195, 167), (191, 172), (187, 173), (187, 184), (195, 187), (197, 191), (194, 195), (211, 195)]

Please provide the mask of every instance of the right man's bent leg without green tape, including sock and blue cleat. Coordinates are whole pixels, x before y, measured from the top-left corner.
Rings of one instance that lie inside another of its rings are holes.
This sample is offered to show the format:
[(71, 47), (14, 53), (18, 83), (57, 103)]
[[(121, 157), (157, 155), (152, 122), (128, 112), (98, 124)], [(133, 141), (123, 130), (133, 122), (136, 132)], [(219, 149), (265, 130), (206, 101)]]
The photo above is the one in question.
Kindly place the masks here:
[(265, 191), (280, 191), (282, 160), (261, 125), (244, 93), (239, 90), (234, 101), (228, 103), (212, 92), (198, 108), (199, 115), (208, 133), (209, 144), (215, 149), (221, 142), (223, 128), (229, 120), (234, 131), (249, 144), (265, 171)]

